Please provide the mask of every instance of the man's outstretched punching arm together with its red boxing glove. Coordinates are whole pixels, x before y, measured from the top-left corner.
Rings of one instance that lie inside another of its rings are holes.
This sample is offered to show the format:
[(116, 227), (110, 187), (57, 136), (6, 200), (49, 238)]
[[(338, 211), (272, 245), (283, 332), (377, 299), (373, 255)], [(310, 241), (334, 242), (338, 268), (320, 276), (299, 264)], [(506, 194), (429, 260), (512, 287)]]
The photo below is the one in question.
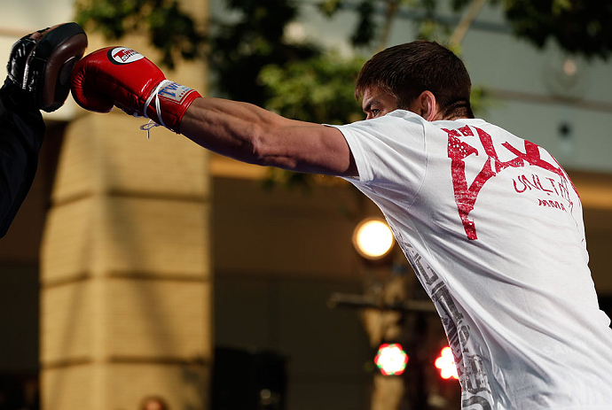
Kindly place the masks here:
[(75, 101), (85, 109), (109, 112), (117, 106), (233, 159), (303, 173), (357, 175), (338, 129), (288, 120), (253, 104), (201, 97), (166, 80), (151, 61), (126, 47), (82, 58), (71, 82)]

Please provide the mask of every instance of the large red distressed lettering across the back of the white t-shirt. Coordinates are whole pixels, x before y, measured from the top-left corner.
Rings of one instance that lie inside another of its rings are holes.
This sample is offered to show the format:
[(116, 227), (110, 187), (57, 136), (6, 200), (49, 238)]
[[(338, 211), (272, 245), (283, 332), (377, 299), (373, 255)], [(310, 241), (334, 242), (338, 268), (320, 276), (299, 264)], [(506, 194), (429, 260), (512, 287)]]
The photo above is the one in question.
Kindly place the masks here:
[[(502, 143), (501, 145), (516, 157), (509, 161), (501, 161), (498, 158), (498, 153), (493, 146), (490, 135), (481, 128), (474, 128), (488, 160), (484, 161), (483, 168), (469, 186), (467, 185), (465, 159), (470, 155), (478, 156), (478, 150), (460, 138), (461, 136), (474, 136), (474, 133), (468, 126), (458, 129), (442, 128), (449, 137), (448, 156), (451, 159), (452, 186), (455, 192), (455, 203), (459, 210), (459, 218), (463, 223), (463, 228), (466, 230), (467, 238), (472, 240), (478, 237), (476, 236), (474, 220), (469, 219), (469, 213), (474, 210), (476, 198), (483, 189), (484, 184), (503, 169), (506, 169), (508, 166), (525, 166), (525, 163), (527, 163), (531, 166), (544, 168), (547, 171), (560, 175), (561, 179), (569, 181), (569, 178), (556, 161), (557, 166), (553, 166), (540, 157), (539, 146), (535, 143), (525, 141), (524, 152), (514, 148), (510, 143)], [(573, 184), (572, 187), (574, 187)], [(576, 187), (574, 187), (574, 190), (576, 191)]]

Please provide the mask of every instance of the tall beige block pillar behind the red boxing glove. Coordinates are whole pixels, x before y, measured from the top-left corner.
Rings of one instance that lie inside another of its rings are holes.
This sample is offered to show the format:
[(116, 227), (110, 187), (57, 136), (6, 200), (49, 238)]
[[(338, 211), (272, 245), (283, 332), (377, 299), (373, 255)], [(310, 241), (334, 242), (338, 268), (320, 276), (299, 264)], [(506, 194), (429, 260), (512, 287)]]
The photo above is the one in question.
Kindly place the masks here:
[[(205, 5), (188, 4), (200, 21)], [(144, 37), (121, 43), (159, 60)], [(202, 62), (165, 73), (206, 94)], [(45, 410), (208, 407), (208, 152), (164, 128), (147, 139), (145, 122), (80, 110), (63, 137), (41, 248)]]

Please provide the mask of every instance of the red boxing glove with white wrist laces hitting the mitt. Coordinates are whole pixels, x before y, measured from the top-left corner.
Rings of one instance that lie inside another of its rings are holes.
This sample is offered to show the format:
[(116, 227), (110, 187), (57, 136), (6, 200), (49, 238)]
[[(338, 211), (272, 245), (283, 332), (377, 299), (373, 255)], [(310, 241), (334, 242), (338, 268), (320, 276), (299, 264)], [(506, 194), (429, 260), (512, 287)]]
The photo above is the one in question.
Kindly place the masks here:
[(106, 47), (82, 58), (72, 72), (70, 89), (86, 110), (109, 112), (116, 105), (176, 133), (184, 112), (201, 97), (195, 89), (166, 80), (150, 60), (127, 47)]

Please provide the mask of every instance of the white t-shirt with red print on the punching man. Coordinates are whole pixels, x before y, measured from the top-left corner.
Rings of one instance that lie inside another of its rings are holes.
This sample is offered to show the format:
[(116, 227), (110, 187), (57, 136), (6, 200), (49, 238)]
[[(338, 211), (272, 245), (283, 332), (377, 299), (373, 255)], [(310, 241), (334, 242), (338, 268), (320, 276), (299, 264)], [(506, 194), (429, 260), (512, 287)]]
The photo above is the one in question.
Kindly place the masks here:
[(440, 314), (462, 408), (612, 409), (612, 329), (582, 205), (543, 148), (484, 120), (404, 110), (339, 126)]

